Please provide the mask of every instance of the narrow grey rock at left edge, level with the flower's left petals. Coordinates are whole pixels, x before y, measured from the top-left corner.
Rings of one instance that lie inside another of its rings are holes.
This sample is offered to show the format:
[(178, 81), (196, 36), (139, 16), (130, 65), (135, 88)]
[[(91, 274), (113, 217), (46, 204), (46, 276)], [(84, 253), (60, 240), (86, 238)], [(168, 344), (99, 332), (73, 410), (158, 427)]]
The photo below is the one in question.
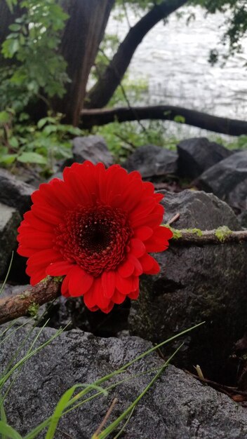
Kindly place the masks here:
[(0, 203), (0, 276), (3, 276), (11, 253), (15, 249), (19, 224), (18, 211)]

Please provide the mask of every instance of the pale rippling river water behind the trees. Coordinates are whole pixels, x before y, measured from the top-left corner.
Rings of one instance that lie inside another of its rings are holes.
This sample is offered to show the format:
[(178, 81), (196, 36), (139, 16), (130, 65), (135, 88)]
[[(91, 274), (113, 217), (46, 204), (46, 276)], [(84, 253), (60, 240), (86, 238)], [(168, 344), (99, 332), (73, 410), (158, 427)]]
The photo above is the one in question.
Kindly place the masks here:
[[(212, 67), (208, 53), (217, 47), (225, 29), (225, 16), (217, 13), (205, 18), (202, 8), (182, 8), (185, 15), (178, 19), (173, 13), (166, 25), (159, 22), (143, 39), (129, 67), (130, 79), (145, 79), (148, 92), (143, 103), (180, 105), (208, 112), (215, 116), (247, 119), (247, 38), (242, 41), (243, 53)], [(195, 20), (187, 25), (188, 13)], [(120, 23), (111, 18), (108, 33), (117, 33), (121, 39), (138, 18), (128, 10), (128, 20)], [(140, 102), (139, 102), (140, 103)], [(199, 128), (178, 126), (165, 122), (168, 134), (209, 134)]]

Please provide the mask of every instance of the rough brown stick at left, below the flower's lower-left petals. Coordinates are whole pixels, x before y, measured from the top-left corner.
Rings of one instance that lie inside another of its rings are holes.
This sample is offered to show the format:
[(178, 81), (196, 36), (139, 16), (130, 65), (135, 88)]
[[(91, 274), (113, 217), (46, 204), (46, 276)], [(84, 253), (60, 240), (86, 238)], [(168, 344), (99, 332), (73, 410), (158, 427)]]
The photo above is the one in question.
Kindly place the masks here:
[(19, 295), (0, 299), (0, 325), (21, 316), (30, 316), (34, 306), (51, 302), (60, 295), (61, 282), (48, 276)]

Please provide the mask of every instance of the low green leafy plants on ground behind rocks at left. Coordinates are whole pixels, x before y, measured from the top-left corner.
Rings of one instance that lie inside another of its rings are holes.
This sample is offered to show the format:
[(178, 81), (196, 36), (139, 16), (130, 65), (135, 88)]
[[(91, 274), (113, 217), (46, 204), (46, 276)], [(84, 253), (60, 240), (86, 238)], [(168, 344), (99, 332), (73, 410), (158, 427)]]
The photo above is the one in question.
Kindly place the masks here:
[(36, 163), (52, 172), (55, 160), (71, 157), (70, 138), (82, 132), (62, 124), (61, 117), (49, 114), (35, 125), (25, 113), (15, 121), (13, 110), (0, 112), (0, 166)]

